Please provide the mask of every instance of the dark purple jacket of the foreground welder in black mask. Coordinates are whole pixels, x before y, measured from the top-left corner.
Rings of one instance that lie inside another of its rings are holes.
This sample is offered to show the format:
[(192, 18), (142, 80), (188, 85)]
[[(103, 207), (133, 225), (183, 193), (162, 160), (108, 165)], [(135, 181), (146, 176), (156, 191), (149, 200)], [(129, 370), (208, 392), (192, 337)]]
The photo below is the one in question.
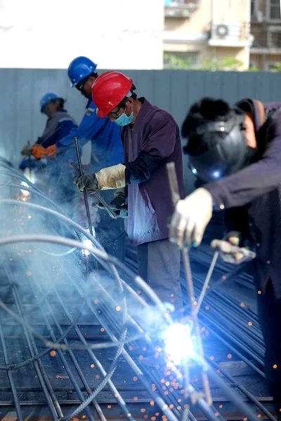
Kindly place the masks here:
[(256, 245), (256, 283), (265, 290), (273, 283), (275, 296), (281, 298), (281, 102), (262, 104), (245, 100), (251, 107), (262, 158), (223, 180), (205, 185), (216, 206), (233, 208), (248, 205), (249, 230)]

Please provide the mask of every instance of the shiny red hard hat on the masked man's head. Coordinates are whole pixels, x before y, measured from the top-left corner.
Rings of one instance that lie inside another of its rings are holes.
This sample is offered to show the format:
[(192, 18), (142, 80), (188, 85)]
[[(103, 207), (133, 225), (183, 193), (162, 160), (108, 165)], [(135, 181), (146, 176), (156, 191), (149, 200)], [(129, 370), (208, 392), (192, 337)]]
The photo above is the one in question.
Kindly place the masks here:
[(106, 117), (126, 97), (133, 79), (120, 72), (105, 72), (98, 76), (92, 86), (92, 98), (97, 116)]

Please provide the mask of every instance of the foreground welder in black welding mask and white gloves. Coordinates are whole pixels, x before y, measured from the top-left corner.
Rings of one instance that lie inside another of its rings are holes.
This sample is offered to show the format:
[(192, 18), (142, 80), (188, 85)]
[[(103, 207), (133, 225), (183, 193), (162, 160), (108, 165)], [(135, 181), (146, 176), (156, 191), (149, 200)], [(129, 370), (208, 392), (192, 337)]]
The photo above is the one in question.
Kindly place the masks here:
[[(213, 209), (232, 210), (233, 215), (244, 209), (257, 255), (253, 265), (266, 342), (265, 374), (281, 419), (281, 102), (247, 99), (230, 107), (204, 98), (190, 108), (182, 135), (202, 187), (178, 202), (171, 241), (179, 247), (199, 246)], [(234, 262), (240, 258), (233, 255)]]

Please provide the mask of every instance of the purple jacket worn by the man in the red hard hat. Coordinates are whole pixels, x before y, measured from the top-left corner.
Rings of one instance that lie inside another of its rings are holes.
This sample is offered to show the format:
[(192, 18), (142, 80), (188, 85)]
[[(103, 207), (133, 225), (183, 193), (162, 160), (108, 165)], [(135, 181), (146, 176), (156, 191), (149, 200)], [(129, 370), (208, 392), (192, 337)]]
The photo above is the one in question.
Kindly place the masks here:
[(174, 161), (181, 197), (184, 197), (183, 161), (179, 128), (164, 109), (141, 98), (141, 107), (133, 129), (122, 128), (124, 163), (134, 161), (140, 152), (163, 159), (150, 180), (128, 185), (126, 232), (139, 245), (169, 237), (167, 222), (173, 213), (166, 163)]

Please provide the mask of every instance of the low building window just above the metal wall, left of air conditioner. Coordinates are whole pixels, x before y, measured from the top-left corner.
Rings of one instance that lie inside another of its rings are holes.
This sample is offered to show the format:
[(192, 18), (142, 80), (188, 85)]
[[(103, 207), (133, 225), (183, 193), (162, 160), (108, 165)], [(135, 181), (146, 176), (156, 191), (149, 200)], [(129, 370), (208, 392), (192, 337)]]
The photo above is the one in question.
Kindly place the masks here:
[(164, 52), (164, 69), (195, 69), (199, 64), (198, 51), (181, 53), (178, 51)]

